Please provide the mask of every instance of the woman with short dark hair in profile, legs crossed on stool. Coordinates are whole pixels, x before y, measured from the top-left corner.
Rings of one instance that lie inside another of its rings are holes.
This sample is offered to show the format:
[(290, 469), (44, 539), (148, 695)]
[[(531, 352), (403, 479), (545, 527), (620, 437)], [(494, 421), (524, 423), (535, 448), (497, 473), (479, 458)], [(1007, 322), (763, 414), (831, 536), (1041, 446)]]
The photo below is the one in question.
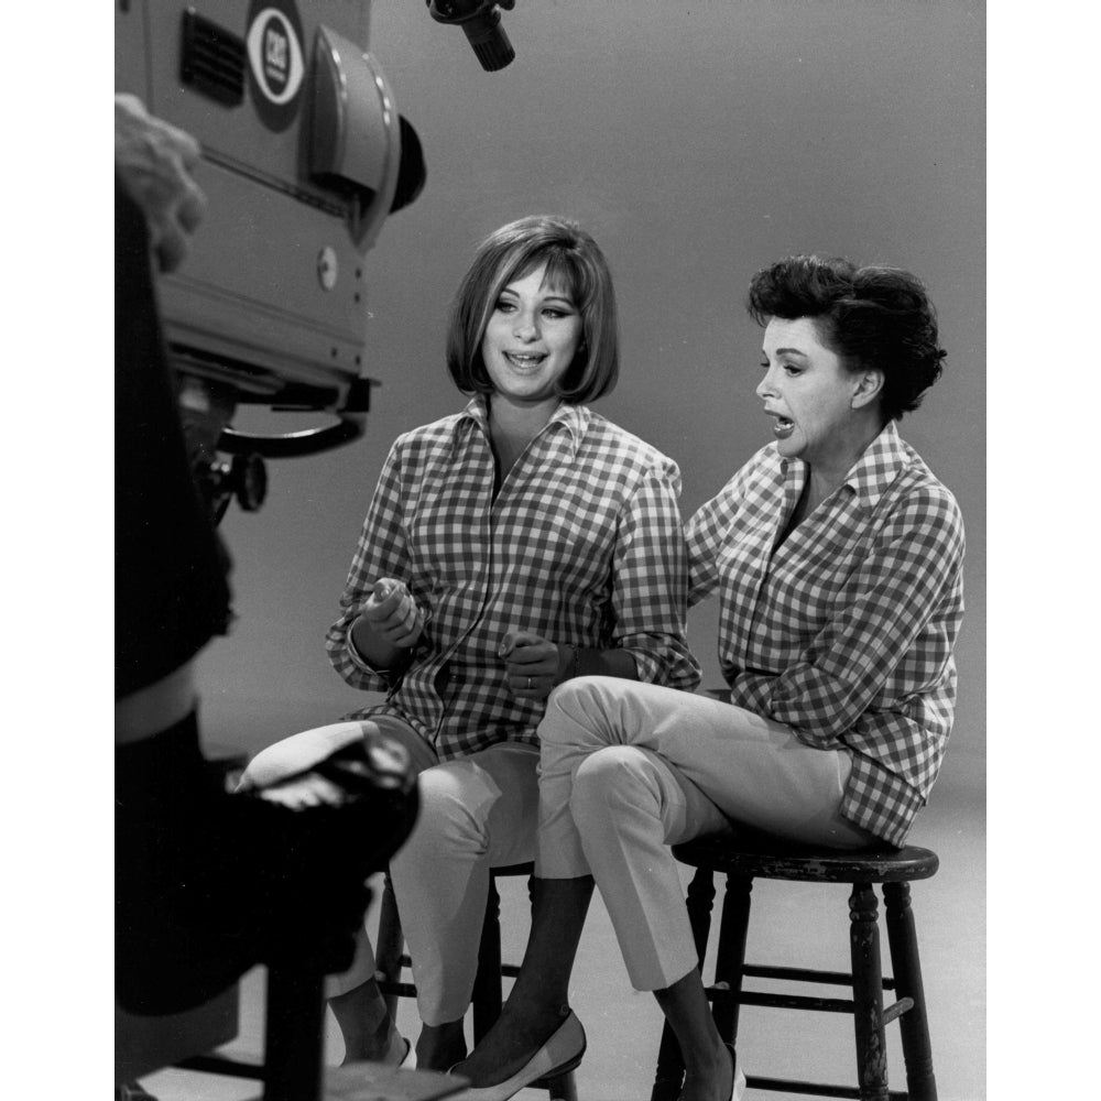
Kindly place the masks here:
[(907, 272), (796, 257), (753, 277), (749, 308), (774, 438), (688, 524), (689, 602), (719, 592), (730, 702), (607, 677), (552, 695), (532, 934), (501, 1017), (456, 1068), (470, 1101), (580, 1060), (568, 979), (593, 884), (677, 1037), (683, 1101), (740, 1097), (671, 846), (731, 821), (901, 846), (940, 767), (963, 525), (895, 427), (940, 374), (933, 306)]

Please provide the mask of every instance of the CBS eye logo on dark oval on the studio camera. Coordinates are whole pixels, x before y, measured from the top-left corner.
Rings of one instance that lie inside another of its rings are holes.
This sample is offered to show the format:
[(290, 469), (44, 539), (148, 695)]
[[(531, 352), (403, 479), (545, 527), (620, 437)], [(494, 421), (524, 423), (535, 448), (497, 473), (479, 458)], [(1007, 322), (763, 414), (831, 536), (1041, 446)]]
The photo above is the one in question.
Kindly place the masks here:
[(305, 75), (302, 20), (293, 0), (252, 0), (244, 41), (257, 112), (269, 130), (285, 130), (298, 113)]

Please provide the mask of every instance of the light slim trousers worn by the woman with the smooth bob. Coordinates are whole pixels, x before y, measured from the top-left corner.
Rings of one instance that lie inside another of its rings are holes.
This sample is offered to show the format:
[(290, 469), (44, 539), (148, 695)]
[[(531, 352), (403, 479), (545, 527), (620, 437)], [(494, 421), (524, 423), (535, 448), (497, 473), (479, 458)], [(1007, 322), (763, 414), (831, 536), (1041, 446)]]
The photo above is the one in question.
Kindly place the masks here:
[[(473, 993), (490, 870), (534, 858), (539, 751), (500, 742), (440, 764), (412, 727), (379, 715), (306, 730), (268, 746), (249, 763), (242, 785), (271, 784), (302, 772), (371, 726), (400, 740), (419, 773), (421, 811), (405, 844), (391, 858), (390, 877), (413, 961), (421, 1020), (446, 1024), (466, 1013)], [(374, 973), (374, 950), (364, 928), (352, 966), (329, 978), (327, 995), (353, 990)]]

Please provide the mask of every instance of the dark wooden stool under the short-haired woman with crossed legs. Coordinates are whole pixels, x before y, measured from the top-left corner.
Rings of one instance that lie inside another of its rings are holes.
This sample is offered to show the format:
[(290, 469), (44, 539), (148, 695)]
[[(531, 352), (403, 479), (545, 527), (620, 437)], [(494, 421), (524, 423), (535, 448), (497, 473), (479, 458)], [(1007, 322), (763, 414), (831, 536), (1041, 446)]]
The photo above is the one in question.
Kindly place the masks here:
[[(715, 900), (713, 873), (727, 876), (719, 930), (715, 985), (708, 989), (711, 1013), (723, 1040), (735, 1044), (738, 1011), (742, 1005), (770, 1005), (826, 1013), (852, 1013), (857, 1042), (859, 1088), (816, 1082), (749, 1077), (757, 1090), (783, 1090), (818, 1097), (859, 1098), (861, 1101), (937, 1101), (933, 1053), (917, 953), (914, 914), (909, 905), (911, 880), (934, 875), (937, 854), (908, 846), (838, 850), (797, 846), (737, 827), (734, 835), (697, 838), (673, 847), (677, 860), (697, 869), (688, 887), (688, 915), (699, 966), (702, 970)], [(755, 967), (745, 963), (750, 892), (754, 879), (798, 880), (810, 883), (849, 883), (849, 938), (852, 973), (799, 968)], [(880, 962), (877, 901), (873, 884), (883, 884), (887, 940), (894, 978), (884, 978)], [(817, 982), (851, 986), (852, 1000), (803, 998), (746, 991), (744, 977)], [(883, 1007), (884, 990), (897, 1001)], [(884, 1026), (897, 1020), (906, 1064), (906, 1092), (887, 1089)], [(674, 1101), (680, 1092), (684, 1064), (672, 1029), (666, 1025), (657, 1059), (651, 1101)]]

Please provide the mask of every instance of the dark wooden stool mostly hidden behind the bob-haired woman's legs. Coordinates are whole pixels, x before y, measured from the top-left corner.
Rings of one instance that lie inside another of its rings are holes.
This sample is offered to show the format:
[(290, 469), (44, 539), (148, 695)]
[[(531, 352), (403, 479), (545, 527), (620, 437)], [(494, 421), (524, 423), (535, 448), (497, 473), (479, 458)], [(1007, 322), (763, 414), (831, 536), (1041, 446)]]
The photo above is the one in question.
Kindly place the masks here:
[[(515, 963), (501, 961), (501, 896), (497, 891), (497, 880), (503, 875), (526, 875), (530, 880), (532, 871), (533, 865), (528, 862), (494, 868), (490, 874), (486, 918), (482, 922), (481, 941), (478, 946), (478, 972), (470, 999), (473, 1010), (475, 1044), (489, 1032), (490, 1026), (501, 1015), (502, 979), (514, 979), (520, 973), (520, 968)], [(531, 892), (530, 882), (528, 892)], [(402, 968), (410, 967), (408, 956), (402, 953), (403, 944), (397, 902), (388, 875), (379, 911), (375, 961), (379, 989), (386, 1000), (386, 1007), (393, 1018), (396, 1018), (399, 998), (416, 998), (416, 986), (411, 982), (401, 981)], [(531, 1088), (546, 1090), (550, 1101), (577, 1101), (577, 1084), (571, 1070), (554, 1078), (541, 1078), (537, 1082), (533, 1082)]]

